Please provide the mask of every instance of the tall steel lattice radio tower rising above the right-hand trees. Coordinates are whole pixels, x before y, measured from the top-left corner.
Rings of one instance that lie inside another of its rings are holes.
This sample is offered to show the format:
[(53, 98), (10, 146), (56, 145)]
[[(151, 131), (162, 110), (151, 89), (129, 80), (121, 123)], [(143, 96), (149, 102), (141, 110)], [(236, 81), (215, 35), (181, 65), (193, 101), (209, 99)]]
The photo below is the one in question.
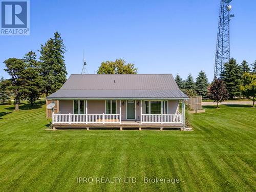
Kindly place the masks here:
[(229, 5), (229, 3), (231, 1), (232, 0), (221, 0), (214, 78), (221, 77), (223, 65), (230, 59), (229, 21), (231, 17), (234, 17), (233, 14), (229, 14), (229, 11), (231, 10), (231, 5)]

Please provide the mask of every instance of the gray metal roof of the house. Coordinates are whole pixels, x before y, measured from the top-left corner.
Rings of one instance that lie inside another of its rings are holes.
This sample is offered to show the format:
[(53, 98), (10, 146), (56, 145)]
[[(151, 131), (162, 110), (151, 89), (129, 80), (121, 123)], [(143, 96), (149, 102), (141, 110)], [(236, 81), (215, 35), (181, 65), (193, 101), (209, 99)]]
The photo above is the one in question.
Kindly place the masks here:
[(72, 74), (48, 99), (187, 98), (172, 74)]

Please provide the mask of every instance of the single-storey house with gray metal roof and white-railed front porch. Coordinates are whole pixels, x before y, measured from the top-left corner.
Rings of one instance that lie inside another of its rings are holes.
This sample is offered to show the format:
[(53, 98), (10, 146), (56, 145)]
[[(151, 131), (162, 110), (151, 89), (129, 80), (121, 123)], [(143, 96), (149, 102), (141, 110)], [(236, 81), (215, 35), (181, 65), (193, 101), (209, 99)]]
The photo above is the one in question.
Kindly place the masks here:
[(186, 99), (172, 74), (72, 74), (60, 90), (47, 97), (47, 102), (56, 103), (51, 114), (54, 129), (182, 130)]

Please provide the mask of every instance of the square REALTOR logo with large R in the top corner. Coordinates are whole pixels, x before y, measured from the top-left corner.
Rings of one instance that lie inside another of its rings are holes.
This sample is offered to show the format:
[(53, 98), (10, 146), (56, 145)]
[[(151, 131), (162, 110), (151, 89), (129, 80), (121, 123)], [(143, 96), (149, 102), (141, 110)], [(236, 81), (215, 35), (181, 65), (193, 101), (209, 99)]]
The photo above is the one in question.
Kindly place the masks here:
[(29, 35), (29, 1), (1, 0), (1, 35)]

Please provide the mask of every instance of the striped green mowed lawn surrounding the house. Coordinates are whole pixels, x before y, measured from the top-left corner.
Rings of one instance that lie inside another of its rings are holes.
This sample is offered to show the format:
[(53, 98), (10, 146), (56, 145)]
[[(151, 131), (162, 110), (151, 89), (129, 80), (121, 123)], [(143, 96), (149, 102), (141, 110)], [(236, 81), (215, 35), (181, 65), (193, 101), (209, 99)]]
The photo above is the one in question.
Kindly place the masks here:
[(256, 109), (205, 109), (191, 116), (194, 132), (46, 131), (45, 105), (15, 112), (0, 105), (0, 191), (256, 191)]

